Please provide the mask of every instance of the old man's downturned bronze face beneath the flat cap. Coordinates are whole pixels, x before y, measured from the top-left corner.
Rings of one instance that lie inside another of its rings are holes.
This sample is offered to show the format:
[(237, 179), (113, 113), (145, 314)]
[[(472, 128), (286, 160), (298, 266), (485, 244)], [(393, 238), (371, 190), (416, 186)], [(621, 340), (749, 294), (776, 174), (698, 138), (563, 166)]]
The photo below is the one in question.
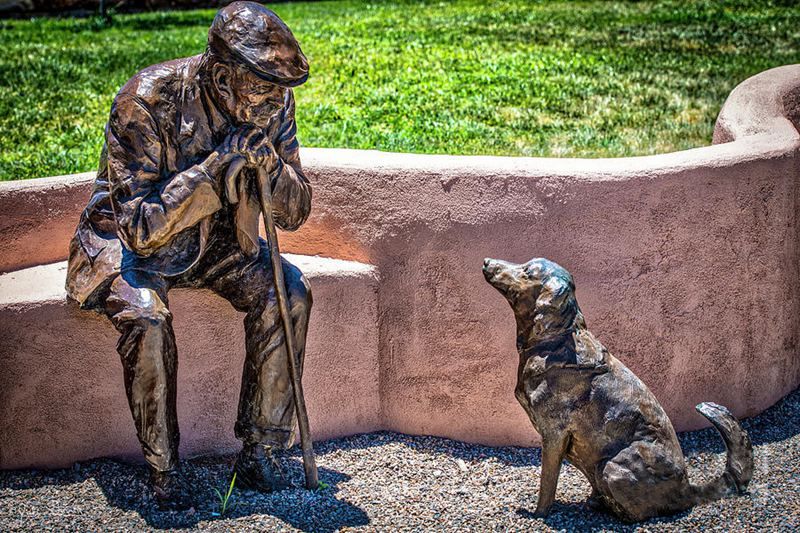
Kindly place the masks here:
[[(234, 69), (228, 77), (230, 86), (225, 107), (237, 125), (252, 123), (265, 128), (285, 102), (286, 88), (262, 80), (243, 67)], [(226, 91), (220, 91), (225, 93)]]

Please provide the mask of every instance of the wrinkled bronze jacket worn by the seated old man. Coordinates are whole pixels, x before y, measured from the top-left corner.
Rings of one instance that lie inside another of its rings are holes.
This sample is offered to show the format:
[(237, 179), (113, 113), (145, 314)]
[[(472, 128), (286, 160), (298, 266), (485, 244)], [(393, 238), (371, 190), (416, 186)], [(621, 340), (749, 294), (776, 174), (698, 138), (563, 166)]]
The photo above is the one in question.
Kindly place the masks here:
[[(258, 249), (257, 192), (224, 198), (221, 176), (199, 166), (231, 132), (228, 119), (199, 83), (202, 56), (177, 59), (136, 74), (111, 107), (94, 190), (70, 243), (67, 293), (84, 307), (96, 306), (103, 289), (123, 268), (179, 275), (205, 251), (213, 216), (235, 210), (244, 252)], [(273, 215), (293, 230), (308, 217), (311, 186), (300, 165), (294, 95), (267, 134), (278, 156), (272, 174)], [(247, 169), (245, 172), (254, 172)]]

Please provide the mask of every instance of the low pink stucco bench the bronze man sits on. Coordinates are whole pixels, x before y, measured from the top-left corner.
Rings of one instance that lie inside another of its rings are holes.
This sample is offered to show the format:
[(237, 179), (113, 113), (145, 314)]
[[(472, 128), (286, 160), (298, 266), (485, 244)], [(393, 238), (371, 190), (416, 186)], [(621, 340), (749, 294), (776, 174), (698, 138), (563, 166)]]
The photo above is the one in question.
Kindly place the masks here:
[[(315, 298), (303, 375), (314, 438), (381, 429), (375, 269), (289, 260), (305, 272)], [(99, 313), (66, 302), (65, 274), (66, 263), (55, 263), (0, 276), (0, 468), (63, 467), (101, 456), (141, 460), (119, 335)], [(188, 289), (170, 292), (170, 310), (181, 454), (234, 451), (244, 314), (211, 291)]]

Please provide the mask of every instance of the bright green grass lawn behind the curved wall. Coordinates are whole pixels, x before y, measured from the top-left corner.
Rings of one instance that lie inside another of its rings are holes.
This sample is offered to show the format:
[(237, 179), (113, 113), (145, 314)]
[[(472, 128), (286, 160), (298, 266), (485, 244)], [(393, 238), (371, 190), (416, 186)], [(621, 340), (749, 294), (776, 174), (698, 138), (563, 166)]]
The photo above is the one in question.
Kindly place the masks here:
[[(730, 90), (800, 62), (793, 2), (298, 2), (305, 146), (604, 157), (710, 143)], [(203, 51), (213, 10), (0, 21), (0, 180), (95, 168), (136, 71)]]

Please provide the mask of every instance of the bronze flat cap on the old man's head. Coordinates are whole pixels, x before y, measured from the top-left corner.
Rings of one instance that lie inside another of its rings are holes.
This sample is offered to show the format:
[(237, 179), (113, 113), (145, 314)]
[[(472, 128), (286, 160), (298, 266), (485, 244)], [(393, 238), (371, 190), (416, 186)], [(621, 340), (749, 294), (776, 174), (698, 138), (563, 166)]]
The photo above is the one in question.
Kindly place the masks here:
[(308, 78), (308, 61), (278, 15), (256, 2), (233, 2), (222, 8), (208, 30), (208, 46), (260, 78), (295, 87)]

